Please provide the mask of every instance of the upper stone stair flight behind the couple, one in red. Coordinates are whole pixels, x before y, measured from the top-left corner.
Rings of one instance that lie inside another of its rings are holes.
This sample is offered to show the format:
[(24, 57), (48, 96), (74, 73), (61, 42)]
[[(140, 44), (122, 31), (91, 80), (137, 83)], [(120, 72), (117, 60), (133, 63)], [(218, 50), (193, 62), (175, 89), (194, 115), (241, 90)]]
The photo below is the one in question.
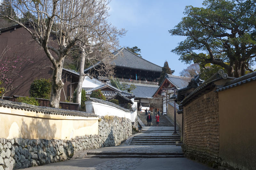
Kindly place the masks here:
[[(138, 117), (140, 118), (140, 120), (143, 122), (143, 124), (145, 126), (148, 125), (147, 122), (147, 116), (145, 115), (145, 112), (137, 112)], [(151, 122), (151, 126), (156, 126), (156, 115), (151, 114), (152, 116), (152, 122)], [(161, 116), (159, 118), (159, 126), (174, 126), (167, 118), (165, 115)]]

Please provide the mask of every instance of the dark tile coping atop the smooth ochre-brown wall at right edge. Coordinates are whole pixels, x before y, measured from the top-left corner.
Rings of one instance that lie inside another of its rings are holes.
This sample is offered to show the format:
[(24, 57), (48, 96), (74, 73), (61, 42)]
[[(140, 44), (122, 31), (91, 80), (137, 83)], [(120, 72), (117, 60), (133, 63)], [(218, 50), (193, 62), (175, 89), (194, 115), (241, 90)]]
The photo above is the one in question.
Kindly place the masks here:
[(217, 92), (223, 91), (223, 90), (226, 90), (226, 89), (229, 89), (232, 87), (236, 87), (238, 85), (245, 84), (245, 83), (253, 81), (253, 80), (256, 80), (256, 72), (252, 72), (252, 73), (246, 74), (242, 77), (231, 80), (231, 81), (227, 82), (224, 87), (217, 89), (216, 91)]

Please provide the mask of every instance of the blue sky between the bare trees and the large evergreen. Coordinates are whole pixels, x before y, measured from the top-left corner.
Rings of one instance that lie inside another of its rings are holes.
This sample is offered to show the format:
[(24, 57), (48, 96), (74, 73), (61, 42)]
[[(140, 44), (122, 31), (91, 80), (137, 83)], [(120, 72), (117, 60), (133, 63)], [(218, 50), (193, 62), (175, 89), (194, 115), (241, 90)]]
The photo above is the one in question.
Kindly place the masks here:
[(202, 7), (202, 3), (203, 0), (112, 0), (108, 21), (128, 31), (119, 39), (120, 46), (138, 46), (143, 58), (159, 66), (167, 60), (174, 75), (179, 75), (188, 65), (171, 50), (185, 37), (171, 36), (168, 30), (180, 22), (186, 5)]

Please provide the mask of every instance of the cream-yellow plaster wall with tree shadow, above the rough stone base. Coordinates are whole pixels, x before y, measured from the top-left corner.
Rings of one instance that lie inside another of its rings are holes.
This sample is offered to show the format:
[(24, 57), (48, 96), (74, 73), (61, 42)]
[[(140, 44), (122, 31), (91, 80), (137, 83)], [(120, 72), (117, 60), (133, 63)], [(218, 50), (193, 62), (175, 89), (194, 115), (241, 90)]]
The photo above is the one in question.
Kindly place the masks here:
[(98, 134), (98, 117), (62, 116), (0, 107), (0, 138), (71, 139)]

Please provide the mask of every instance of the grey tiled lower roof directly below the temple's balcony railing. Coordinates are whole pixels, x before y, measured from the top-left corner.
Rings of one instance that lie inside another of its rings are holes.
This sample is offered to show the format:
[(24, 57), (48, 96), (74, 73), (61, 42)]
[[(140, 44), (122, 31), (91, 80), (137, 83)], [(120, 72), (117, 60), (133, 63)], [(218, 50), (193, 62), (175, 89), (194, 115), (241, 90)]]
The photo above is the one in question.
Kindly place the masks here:
[(156, 90), (159, 86), (146, 86), (146, 85), (139, 85), (134, 84), (135, 89), (132, 90), (133, 95), (135, 98), (153, 98), (152, 96), (155, 94)]

